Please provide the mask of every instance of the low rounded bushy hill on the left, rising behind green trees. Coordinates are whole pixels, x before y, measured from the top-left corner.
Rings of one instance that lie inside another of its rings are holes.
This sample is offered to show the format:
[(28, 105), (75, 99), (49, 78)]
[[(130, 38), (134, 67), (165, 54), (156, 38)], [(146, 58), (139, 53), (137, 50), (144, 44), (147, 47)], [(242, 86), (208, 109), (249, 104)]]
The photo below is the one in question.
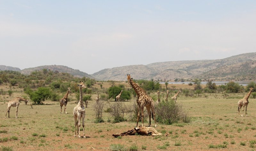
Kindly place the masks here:
[(20, 73), (22, 74), (30, 74), (33, 71), (39, 71), (42, 69), (50, 69), (52, 71), (58, 71), (58, 72), (65, 72), (65, 73), (69, 73), (75, 77), (87, 77), (87, 78), (91, 78), (91, 79), (95, 79), (94, 77), (92, 77), (91, 75), (85, 73), (85, 72), (81, 72), (77, 69), (72, 69), (69, 68), (67, 66), (64, 65), (44, 65), (44, 66), (38, 66), (38, 67), (34, 67), (34, 68), (27, 68), (27, 69), (23, 69), (20, 71)]

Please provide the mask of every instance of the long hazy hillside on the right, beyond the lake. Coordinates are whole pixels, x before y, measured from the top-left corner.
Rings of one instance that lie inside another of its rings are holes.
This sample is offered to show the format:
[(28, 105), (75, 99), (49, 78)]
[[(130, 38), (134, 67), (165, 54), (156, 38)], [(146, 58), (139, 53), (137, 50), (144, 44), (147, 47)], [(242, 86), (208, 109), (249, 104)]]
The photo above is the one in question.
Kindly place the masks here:
[(103, 80), (126, 80), (127, 74), (131, 74), (134, 79), (164, 81), (173, 81), (176, 78), (256, 80), (255, 61), (256, 53), (253, 52), (217, 60), (169, 61), (148, 65), (128, 65), (100, 70), (93, 73), (92, 76)]

